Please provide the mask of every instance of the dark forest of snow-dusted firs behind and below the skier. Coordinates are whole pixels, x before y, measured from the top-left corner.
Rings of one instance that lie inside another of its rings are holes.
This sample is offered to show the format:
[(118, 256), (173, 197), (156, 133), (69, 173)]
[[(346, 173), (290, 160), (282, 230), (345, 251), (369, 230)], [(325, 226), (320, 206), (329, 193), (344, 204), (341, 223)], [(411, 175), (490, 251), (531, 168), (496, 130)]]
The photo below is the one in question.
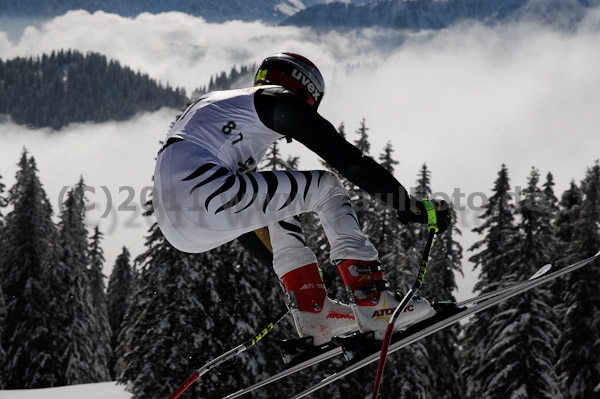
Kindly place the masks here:
[[(371, 154), (369, 128), (340, 134), (393, 172), (388, 144)], [(277, 144), (262, 169), (290, 169)], [(327, 165), (323, 165), (327, 169)], [(430, 196), (432, 171), (415, 177), (417, 196)], [(478, 241), (459, 243), (460, 224), (439, 236), (422, 295), (453, 300), (455, 274), (475, 266), (484, 293), (600, 249), (600, 163), (563, 193), (551, 173), (532, 168), (522, 199), (509, 194), (510, 173), (499, 165), (475, 228)], [(393, 210), (345, 181), (366, 234), (387, 265), (386, 278), (403, 292), (414, 279), (426, 231), (398, 223)], [(284, 308), (274, 272), (233, 241), (210, 252), (174, 249), (154, 224), (145, 251), (123, 248), (106, 284), (102, 232), (85, 225), (84, 181), (75, 182), (58, 209), (46, 196), (33, 154), (23, 152), (16, 183), (0, 177), (0, 387), (23, 389), (116, 379), (135, 398), (167, 397), (208, 360), (254, 336)], [(152, 218), (151, 212), (147, 217)], [(460, 212), (457, 220), (460, 221)], [(55, 221), (57, 220), (57, 221)], [(315, 214), (302, 215), (307, 245), (332, 280), (328, 244)], [(468, 263), (467, 260), (470, 262)], [(466, 270), (465, 270), (466, 271)], [(438, 332), (388, 359), (382, 397), (417, 399), (588, 399), (600, 390), (600, 265), (513, 298)], [(184, 398), (218, 398), (274, 374), (282, 367), (272, 340), (292, 338), (291, 320), (264, 342), (194, 384)], [(289, 397), (339, 369), (342, 359), (299, 373), (261, 397)], [(374, 370), (363, 369), (327, 388), (323, 396), (364, 398)], [(596, 396), (594, 396), (596, 395)]]

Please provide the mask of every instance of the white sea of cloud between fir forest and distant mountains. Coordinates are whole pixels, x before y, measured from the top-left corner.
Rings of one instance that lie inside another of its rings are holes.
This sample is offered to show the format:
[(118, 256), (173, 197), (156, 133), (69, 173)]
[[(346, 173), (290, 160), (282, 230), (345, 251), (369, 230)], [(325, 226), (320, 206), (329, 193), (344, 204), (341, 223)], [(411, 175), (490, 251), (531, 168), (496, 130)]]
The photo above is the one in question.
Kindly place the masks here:
[[(15, 25), (17, 27), (15, 28)], [(349, 140), (365, 118), (377, 157), (389, 141), (400, 161), (396, 177), (414, 185), (427, 163), (435, 192), (451, 196), (468, 248), (477, 237), (477, 210), (500, 167), (515, 192), (532, 167), (552, 172), (560, 195), (600, 158), (600, 11), (574, 32), (532, 24), (463, 24), (440, 32), (382, 29), (317, 35), (310, 29), (261, 23), (208, 24), (181, 13), (136, 18), (72, 11), (23, 25), (0, 20), (0, 58), (37, 56), (63, 48), (100, 52), (188, 93), (232, 65), (259, 62), (278, 51), (307, 56), (321, 69), (326, 94), (319, 112)], [(351, 67), (349, 67), (351, 66)], [(90, 186), (90, 226), (106, 238), (105, 272), (127, 246), (144, 247), (150, 221), (141, 217), (158, 142), (177, 110), (162, 109), (126, 122), (76, 124), (59, 132), (0, 123), (0, 175), (10, 187), (24, 147), (38, 161), (55, 211), (80, 176)], [(318, 167), (298, 144), (303, 169)], [(108, 205), (110, 204), (110, 206)], [(459, 299), (470, 295), (476, 273)]]

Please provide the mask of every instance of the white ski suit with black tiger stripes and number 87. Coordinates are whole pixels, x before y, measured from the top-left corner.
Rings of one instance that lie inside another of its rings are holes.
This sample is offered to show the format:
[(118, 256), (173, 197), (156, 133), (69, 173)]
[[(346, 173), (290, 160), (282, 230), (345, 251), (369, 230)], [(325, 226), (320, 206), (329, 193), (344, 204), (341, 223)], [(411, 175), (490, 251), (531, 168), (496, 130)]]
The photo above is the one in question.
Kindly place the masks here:
[(333, 173), (252, 171), (268, 147), (284, 137), (261, 121), (255, 106), (259, 91), (283, 89), (262, 86), (209, 93), (190, 105), (171, 129), (154, 175), (153, 205), (164, 236), (177, 249), (196, 253), (268, 226), (274, 269), (282, 277), (316, 262), (298, 218), (314, 211), (331, 245), (332, 260), (377, 259)]

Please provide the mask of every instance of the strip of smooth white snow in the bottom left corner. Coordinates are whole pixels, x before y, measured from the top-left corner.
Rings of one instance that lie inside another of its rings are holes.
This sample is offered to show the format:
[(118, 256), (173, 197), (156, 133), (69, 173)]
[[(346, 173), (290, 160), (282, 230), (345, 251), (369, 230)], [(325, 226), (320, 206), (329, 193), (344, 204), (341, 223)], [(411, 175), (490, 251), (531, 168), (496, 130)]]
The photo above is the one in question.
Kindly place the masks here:
[(125, 385), (116, 382), (72, 385), (43, 389), (16, 389), (0, 391), (0, 399), (131, 399)]

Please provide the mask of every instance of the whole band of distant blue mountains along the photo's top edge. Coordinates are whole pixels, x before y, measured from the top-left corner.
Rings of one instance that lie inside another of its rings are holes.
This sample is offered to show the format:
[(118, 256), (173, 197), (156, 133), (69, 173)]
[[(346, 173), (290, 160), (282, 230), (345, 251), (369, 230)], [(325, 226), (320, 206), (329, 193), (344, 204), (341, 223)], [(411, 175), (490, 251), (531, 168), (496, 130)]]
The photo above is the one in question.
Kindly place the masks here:
[(179, 11), (213, 23), (263, 21), (319, 30), (439, 30), (466, 20), (541, 21), (569, 29), (599, 4), (600, 0), (0, 0), (0, 17), (52, 18), (75, 9), (125, 17)]

